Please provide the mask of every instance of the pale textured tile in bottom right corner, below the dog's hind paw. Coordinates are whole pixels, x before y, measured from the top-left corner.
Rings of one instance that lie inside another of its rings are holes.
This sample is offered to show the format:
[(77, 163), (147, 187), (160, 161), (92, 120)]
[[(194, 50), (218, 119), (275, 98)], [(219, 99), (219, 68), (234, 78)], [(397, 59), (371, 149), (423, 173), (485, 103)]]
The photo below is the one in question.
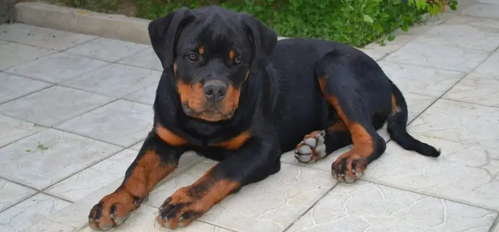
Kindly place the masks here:
[(367, 182), (338, 185), (289, 232), (487, 232), (497, 213)]

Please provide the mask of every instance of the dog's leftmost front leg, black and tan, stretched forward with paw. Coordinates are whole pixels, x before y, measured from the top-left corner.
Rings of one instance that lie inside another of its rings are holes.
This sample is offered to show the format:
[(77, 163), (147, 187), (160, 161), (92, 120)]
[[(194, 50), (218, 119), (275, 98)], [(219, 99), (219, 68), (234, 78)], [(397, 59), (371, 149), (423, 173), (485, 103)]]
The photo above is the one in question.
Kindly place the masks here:
[(184, 151), (183, 147), (166, 143), (156, 131), (150, 132), (120, 187), (90, 210), (90, 228), (107, 231), (122, 224), (154, 186), (177, 168)]

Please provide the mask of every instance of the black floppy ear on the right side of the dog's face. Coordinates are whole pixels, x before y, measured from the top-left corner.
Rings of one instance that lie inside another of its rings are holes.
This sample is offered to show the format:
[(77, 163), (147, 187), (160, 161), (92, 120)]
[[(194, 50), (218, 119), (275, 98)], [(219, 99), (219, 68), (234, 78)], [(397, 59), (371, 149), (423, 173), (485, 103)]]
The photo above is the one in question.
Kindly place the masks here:
[(250, 14), (243, 14), (243, 23), (253, 46), (253, 60), (250, 69), (251, 72), (257, 72), (267, 62), (266, 58), (274, 50), (277, 34)]

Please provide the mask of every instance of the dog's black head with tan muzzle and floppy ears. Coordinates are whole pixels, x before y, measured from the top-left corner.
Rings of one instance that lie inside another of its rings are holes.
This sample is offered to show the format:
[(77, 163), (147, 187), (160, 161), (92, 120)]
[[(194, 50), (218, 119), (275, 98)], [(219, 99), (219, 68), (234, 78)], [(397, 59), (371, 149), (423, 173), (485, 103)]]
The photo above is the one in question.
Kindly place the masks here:
[(218, 6), (180, 8), (149, 24), (163, 68), (171, 70), (184, 113), (232, 117), (250, 73), (266, 64), (276, 33), (250, 14)]

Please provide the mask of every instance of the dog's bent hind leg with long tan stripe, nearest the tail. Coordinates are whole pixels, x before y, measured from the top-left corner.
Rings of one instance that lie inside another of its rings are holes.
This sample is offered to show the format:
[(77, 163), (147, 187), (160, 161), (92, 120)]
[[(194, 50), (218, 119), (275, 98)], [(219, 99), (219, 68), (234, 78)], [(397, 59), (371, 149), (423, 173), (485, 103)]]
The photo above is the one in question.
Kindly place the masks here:
[[(390, 107), (390, 91), (387, 88), (388, 101), (385, 102), (383, 91), (376, 101), (364, 99), (363, 91), (383, 88), (382, 81), (374, 83), (377, 73), (357, 70), (359, 66), (355, 59), (337, 51), (327, 53), (318, 63), (316, 74), (324, 98), (334, 108), (340, 121), (349, 131), (353, 147), (339, 156), (331, 165), (331, 172), (339, 182), (351, 183), (358, 180), (367, 165), (379, 158), (386, 149), (385, 140), (377, 133), (372, 121), (372, 114), (368, 104), (380, 103), (380, 110), (384, 105)], [(366, 67), (368, 68), (368, 67)], [(366, 87), (366, 83), (370, 83)], [(376, 123), (380, 124), (380, 123)], [(377, 125), (379, 127), (379, 125)], [(344, 133), (346, 135), (346, 133)]]

